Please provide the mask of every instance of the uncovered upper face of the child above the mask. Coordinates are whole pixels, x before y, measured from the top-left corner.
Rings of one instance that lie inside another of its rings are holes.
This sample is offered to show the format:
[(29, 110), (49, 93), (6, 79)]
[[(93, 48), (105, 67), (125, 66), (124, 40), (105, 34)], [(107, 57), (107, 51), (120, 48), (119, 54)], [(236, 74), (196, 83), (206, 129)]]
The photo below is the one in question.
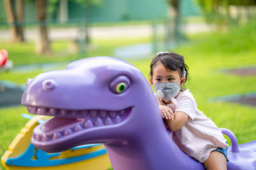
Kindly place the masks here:
[[(152, 78), (150, 78), (150, 83), (152, 86), (154, 86), (154, 84), (158, 82), (178, 83), (180, 81), (179, 72), (166, 69), (166, 67), (164, 67), (164, 65), (161, 62), (156, 63), (156, 66), (153, 68), (152, 72), (153, 72), (153, 75), (152, 75)], [(180, 81), (180, 86), (184, 84), (185, 80), (186, 78), (182, 77)]]

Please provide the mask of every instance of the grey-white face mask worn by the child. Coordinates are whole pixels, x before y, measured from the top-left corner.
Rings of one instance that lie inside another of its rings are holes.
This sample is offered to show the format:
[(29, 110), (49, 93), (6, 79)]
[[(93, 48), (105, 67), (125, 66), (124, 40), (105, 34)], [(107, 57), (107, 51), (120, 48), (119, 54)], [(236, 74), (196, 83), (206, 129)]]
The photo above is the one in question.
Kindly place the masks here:
[[(180, 81), (185, 76), (186, 76), (186, 71), (184, 71), (182, 77), (180, 78)], [(162, 99), (165, 102), (171, 101), (172, 98), (174, 98), (175, 96), (177, 96), (177, 94), (179, 94), (180, 81), (178, 83), (176, 83), (176, 82), (155, 83), (154, 89), (156, 91), (157, 97), (159, 97), (160, 99)]]

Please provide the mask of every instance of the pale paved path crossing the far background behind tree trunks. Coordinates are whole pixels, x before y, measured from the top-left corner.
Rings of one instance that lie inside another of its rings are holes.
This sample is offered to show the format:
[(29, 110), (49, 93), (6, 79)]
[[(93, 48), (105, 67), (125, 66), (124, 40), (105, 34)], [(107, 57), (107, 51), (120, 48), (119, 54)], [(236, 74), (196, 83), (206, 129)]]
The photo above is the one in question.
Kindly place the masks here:
[[(212, 27), (207, 24), (186, 24), (184, 25), (184, 31), (189, 34), (197, 32), (212, 31)], [(100, 39), (113, 39), (120, 37), (145, 37), (152, 35), (152, 25), (124, 25), (124, 26), (111, 26), (111, 27), (90, 27), (90, 35), (92, 38)], [(157, 26), (157, 32), (163, 32), (164, 27), (162, 25)], [(37, 41), (38, 29), (25, 29), (24, 31), (26, 39), (29, 41)], [(79, 34), (79, 28), (50, 28), (49, 37), (53, 40), (62, 39), (76, 39), (81, 36)], [(0, 29), (0, 41), (8, 40), (10, 38), (10, 32), (8, 30)]]

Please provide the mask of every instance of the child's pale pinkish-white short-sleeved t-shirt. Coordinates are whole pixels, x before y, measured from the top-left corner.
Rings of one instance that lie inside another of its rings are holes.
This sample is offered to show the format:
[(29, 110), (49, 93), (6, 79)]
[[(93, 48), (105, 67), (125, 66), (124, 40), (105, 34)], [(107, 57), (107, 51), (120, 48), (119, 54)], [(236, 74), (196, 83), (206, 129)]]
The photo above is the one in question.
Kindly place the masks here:
[(228, 146), (221, 130), (211, 118), (207, 118), (202, 111), (198, 110), (189, 89), (181, 92), (176, 100), (176, 106), (175, 104), (167, 104), (167, 106), (172, 109), (173, 113), (182, 111), (189, 116), (186, 124), (179, 131), (174, 132), (185, 153), (199, 162), (204, 162), (212, 150)]

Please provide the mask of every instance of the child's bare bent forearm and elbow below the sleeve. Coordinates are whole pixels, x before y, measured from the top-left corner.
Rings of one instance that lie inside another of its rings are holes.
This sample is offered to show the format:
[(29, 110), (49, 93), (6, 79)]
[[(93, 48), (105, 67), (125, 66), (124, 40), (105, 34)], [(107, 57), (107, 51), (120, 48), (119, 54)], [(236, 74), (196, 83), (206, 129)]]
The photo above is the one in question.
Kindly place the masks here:
[(175, 111), (174, 116), (166, 120), (166, 123), (172, 131), (179, 131), (179, 129), (186, 124), (188, 118), (188, 115), (183, 111)]

